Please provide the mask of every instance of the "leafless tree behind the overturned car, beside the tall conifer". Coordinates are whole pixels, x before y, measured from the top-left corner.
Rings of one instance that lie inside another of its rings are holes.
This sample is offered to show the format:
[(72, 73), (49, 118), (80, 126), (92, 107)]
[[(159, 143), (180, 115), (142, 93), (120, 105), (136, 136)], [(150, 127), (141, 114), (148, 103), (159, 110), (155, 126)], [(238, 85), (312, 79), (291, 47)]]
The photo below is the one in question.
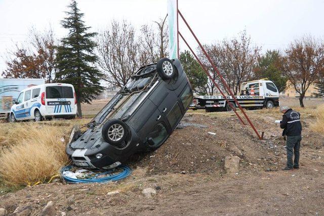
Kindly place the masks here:
[(127, 21), (112, 21), (110, 27), (99, 34), (98, 66), (105, 73), (104, 80), (115, 87), (123, 87), (136, 70), (147, 62), (143, 56), (135, 29)]

